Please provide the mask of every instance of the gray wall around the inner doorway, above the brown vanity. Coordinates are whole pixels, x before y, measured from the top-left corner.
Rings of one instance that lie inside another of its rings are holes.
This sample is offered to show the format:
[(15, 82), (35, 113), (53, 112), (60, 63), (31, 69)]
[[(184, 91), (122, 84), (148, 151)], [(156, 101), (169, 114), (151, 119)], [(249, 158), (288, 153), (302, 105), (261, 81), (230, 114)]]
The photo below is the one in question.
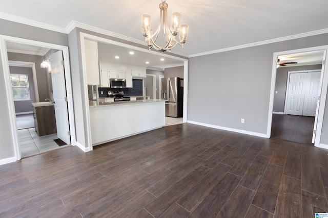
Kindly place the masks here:
[(8, 60), (10, 61), (25, 61), (35, 63), (37, 89), (39, 93), (39, 101), (44, 102), (49, 98), (48, 85), (47, 85), (47, 71), (46, 68), (41, 68), (40, 64), (44, 60), (43, 56), (38, 55), (26, 55), (19, 53), (8, 52)]

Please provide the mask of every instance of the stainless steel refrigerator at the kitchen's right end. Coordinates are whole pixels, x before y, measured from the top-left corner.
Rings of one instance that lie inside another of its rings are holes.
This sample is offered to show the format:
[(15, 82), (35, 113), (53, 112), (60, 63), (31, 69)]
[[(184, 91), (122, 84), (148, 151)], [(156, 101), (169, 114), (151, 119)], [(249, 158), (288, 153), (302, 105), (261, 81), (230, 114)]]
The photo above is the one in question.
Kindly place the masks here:
[(162, 78), (162, 99), (165, 102), (165, 115), (181, 117), (183, 114), (183, 79), (179, 77)]

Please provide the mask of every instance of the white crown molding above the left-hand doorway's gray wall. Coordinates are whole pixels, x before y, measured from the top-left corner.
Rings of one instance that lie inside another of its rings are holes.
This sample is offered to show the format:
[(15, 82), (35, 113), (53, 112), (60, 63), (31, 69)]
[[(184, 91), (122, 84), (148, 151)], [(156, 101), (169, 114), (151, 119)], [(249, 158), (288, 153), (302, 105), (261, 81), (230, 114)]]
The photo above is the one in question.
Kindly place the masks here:
[(34, 21), (34, 20), (22, 18), (22, 17), (13, 16), (10, 14), (0, 13), (0, 18), (9, 20), (9, 21), (13, 21), (13, 22), (23, 23), (25, 25), (29, 25), (29, 26), (33, 26), (33, 27), (37, 27), (37, 28), (42, 28), (42, 29), (46, 29), (46, 30), (59, 32), (59, 33), (67, 33), (64, 28), (52, 26), (47, 23), (43, 23), (43, 22), (39, 22), (39, 21)]

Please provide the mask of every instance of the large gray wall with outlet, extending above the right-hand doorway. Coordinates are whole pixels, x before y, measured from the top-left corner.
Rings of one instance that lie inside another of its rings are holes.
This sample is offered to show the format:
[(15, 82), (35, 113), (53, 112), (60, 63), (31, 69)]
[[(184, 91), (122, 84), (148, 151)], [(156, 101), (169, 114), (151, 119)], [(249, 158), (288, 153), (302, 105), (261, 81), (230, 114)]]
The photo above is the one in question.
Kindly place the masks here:
[[(327, 44), (321, 34), (190, 58), (188, 120), (266, 134), (273, 54)], [(328, 134), (321, 135), (328, 144)]]

